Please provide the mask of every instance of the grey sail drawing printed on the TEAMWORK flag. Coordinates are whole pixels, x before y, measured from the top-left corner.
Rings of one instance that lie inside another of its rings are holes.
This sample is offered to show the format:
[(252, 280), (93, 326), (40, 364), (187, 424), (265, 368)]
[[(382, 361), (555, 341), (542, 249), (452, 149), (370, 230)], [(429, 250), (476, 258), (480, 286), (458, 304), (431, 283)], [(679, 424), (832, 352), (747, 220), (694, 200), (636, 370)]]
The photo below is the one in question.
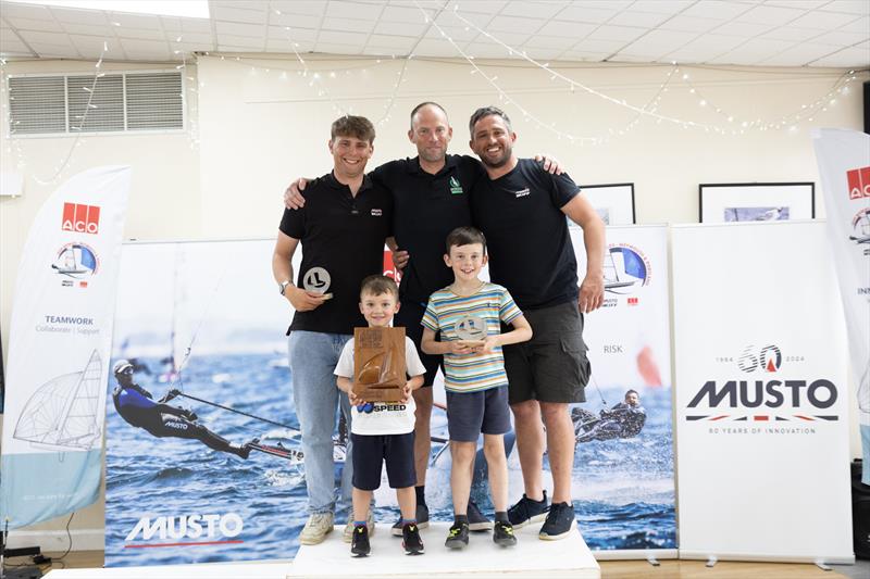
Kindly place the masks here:
[(89, 450), (101, 437), (98, 424), (102, 360), (95, 350), (85, 369), (52, 378), (30, 397), (13, 438), (51, 446)]

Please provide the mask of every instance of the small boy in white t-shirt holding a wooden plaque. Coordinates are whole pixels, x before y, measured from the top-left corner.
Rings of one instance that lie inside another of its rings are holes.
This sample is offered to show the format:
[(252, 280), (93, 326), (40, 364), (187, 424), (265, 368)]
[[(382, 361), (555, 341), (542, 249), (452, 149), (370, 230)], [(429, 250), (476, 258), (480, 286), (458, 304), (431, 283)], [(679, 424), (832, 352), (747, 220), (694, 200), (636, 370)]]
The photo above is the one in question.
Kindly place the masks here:
[[(399, 289), (386, 276), (369, 276), (360, 288), (360, 311), (369, 327), (388, 327), (399, 311)], [(353, 339), (345, 344), (335, 367), (338, 388), (348, 393), (351, 407), (350, 437), (353, 442), (353, 536), (350, 552), (364, 557), (371, 552), (365, 526), (372, 493), (381, 486), (381, 465), (387, 463), (389, 486), (402, 517), (402, 546), (408, 555), (423, 553), (417, 527), (417, 471), (414, 470), (414, 399), (411, 392), (423, 385), (425, 366), (410, 338), (405, 338), (405, 364), (411, 378), (396, 402), (366, 402), (351, 391), (353, 385)]]

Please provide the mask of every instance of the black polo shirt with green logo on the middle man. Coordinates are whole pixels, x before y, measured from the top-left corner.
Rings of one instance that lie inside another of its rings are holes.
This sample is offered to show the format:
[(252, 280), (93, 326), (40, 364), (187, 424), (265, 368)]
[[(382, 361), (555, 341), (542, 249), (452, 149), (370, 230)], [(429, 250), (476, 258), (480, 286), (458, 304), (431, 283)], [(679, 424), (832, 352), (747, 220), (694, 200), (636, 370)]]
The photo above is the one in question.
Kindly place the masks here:
[(486, 172), (474, 158), (447, 155), (435, 175), (414, 158), (384, 163), (372, 178), (393, 193), (393, 234), (399, 249), (411, 255), (402, 270), (401, 299), (426, 303), (435, 290), (453, 282), (444, 264), (444, 242), (457, 227), (471, 225), (469, 197)]

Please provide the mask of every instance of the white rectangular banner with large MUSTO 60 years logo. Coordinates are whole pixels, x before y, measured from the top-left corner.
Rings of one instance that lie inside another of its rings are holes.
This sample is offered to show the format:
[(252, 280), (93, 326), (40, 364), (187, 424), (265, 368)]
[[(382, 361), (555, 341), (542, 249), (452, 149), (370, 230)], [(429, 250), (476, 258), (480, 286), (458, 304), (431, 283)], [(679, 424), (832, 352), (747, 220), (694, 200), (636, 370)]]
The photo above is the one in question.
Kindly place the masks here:
[(854, 561), (846, 332), (824, 227), (672, 228), (681, 557)]

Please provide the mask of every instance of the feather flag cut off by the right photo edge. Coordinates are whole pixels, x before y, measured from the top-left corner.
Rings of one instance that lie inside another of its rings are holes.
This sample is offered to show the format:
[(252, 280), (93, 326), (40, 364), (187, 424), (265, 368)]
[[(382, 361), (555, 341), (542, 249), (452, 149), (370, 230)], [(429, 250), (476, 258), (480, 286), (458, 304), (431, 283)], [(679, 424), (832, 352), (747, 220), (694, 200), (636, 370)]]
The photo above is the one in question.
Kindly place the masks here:
[(858, 383), (861, 481), (870, 484), (870, 136), (824, 128), (813, 134), (813, 144)]

